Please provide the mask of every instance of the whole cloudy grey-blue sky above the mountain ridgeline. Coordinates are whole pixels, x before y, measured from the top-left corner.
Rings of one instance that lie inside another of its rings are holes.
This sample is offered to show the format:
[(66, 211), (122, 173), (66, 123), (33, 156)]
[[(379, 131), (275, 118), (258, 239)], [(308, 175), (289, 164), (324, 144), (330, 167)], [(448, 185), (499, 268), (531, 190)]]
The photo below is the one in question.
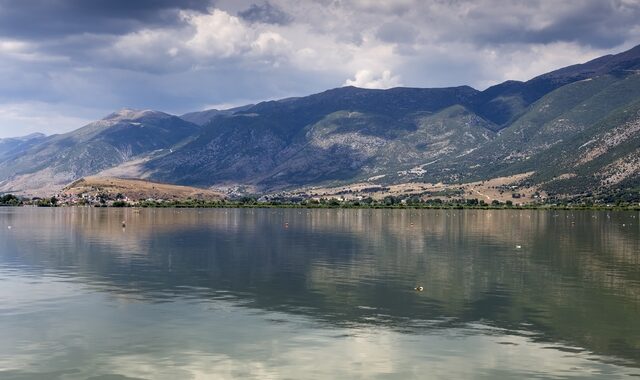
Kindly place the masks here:
[(640, 0), (0, 0), (0, 138), (366, 88), (484, 89), (640, 44)]

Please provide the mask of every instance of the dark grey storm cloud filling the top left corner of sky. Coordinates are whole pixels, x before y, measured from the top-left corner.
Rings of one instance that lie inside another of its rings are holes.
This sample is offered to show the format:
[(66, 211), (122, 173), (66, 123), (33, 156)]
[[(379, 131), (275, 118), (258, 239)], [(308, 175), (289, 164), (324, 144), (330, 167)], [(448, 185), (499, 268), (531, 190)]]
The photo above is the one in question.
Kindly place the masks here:
[(0, 0), (0, 36), (50, 39), (74, 34), (121, 35), (179, 24), (180, 9), (205, 12), (211, 0)]

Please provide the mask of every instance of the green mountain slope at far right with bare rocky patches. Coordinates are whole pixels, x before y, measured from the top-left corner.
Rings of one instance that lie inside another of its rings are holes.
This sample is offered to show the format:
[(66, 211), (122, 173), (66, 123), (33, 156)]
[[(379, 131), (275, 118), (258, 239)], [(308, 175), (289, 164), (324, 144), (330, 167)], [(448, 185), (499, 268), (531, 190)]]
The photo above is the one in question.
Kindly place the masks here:
[[(640, 72), (583, 79), (543, 96), (491, 143), (434, 165), (422, 179), (535, 171), (531, 181), (553, 193), (633, 187), (640, 179), (639, 124)], [(614, 175), (617, 169), (624, 173)]]

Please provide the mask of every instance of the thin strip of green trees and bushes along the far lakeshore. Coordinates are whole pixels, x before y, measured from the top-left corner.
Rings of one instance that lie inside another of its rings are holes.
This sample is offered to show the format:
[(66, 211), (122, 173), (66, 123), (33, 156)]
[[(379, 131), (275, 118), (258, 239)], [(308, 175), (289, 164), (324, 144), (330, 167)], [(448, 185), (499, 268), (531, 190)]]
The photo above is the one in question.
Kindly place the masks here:
[(0, 206), (14, 207), (110, 207), (110, 208), (306, 208), (306, 209), (474, 209), (474, 210), (627, 210), (640, 211), (637, 200), (617, 199), (615, 203), (593, 202), (579, 199), (554, 199), (546, 202), (519, 204), (512, 201), (486, 203), (478, 199), (407, 199), (385, 197), (381, 200), (340, 200), (336, 198), (282, 199), (259, 201), (256, 197), (237, 199), (202, 200), (141, 200), (137, 202), (122, 199), (100, 199), (97, 203), (79, 202), (69, 204), (56, 197), (20, 198), (12, 194), (0, 196)]

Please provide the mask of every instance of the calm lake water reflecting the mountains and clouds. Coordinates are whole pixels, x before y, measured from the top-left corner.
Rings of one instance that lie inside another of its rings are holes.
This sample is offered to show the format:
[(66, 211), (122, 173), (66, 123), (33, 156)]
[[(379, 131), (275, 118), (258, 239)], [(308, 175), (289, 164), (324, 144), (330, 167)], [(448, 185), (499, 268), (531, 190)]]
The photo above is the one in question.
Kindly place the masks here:
[(637, 378), (639, 218), (0, 208), (0, 379)]

